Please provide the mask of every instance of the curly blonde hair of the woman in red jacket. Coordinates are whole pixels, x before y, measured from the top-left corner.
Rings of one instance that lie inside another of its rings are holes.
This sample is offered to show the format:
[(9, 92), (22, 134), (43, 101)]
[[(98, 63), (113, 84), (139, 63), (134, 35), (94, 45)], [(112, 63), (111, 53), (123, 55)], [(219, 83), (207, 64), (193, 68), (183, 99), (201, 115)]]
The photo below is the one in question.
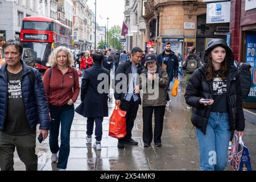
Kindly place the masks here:
[(71, 67), (72, 64), (74, 63), (73, 55), (72, 55), (70, 49), (68, 49), (67, 47), (64, 47), (64, 46), (59, 46), (59, 47), (53, 49), (51, 55), (49, 55), (49, 64), (51, 64), (51, 66), (57, 65), (57, 55), (60, 51), (64, 51), (65, 53), (67, 53), (67, 55), (68, 55), (67, 65), (69, 67)]

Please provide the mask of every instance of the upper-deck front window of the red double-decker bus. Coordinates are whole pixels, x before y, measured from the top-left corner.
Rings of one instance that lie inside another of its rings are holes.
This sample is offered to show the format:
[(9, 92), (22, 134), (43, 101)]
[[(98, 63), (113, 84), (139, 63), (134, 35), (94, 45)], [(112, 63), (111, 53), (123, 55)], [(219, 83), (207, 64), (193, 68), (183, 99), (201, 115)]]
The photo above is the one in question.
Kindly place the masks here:
[(22, 29), (24, 30), (53, 30), (53, 23), (51, 22), (32, 22), (24, 21), (22, 24)]

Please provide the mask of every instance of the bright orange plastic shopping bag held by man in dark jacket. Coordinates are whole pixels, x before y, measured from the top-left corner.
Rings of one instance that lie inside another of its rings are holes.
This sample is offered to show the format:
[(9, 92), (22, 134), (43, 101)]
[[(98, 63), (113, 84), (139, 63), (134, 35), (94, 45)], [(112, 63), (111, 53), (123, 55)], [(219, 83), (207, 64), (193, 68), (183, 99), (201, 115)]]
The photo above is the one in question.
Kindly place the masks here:
[(115, 109), (109, 119), (109, 136), (121, 139), (126, 135), (126, 111), (115, 106)]

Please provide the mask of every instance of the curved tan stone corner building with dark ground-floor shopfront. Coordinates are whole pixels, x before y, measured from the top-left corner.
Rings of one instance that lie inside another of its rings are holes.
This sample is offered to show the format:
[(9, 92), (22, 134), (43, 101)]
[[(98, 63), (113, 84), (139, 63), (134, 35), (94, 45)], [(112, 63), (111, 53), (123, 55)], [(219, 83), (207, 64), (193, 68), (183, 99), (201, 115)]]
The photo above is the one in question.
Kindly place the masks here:
[(145, 3), (146, 39), (161, 53), (164, 43), (171, 42), (172, 51), (187, 56), (196, 46), (197, 16), (206, 14), (206, 4), (199, 1), (148, 0)]

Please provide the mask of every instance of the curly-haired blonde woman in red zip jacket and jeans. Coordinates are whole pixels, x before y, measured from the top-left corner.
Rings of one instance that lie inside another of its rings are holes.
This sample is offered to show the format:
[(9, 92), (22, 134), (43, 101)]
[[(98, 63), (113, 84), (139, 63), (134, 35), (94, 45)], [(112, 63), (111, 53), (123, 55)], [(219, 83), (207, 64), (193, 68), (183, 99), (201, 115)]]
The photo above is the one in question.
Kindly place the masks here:
[(57, 168), (65, 170), (70, 150), (70, 130), (75, 113), (74, 102), (80, 90), (79, 77), (76, 69), (71, 67), (73, 55), (66, 47), (60, 46), (54, 49), (49, 56), (49, 63), (52, 68), (47, 69), (43, 79), (51, 114), (49, 147), (52, 152), (52, 162), (57, 162)]

